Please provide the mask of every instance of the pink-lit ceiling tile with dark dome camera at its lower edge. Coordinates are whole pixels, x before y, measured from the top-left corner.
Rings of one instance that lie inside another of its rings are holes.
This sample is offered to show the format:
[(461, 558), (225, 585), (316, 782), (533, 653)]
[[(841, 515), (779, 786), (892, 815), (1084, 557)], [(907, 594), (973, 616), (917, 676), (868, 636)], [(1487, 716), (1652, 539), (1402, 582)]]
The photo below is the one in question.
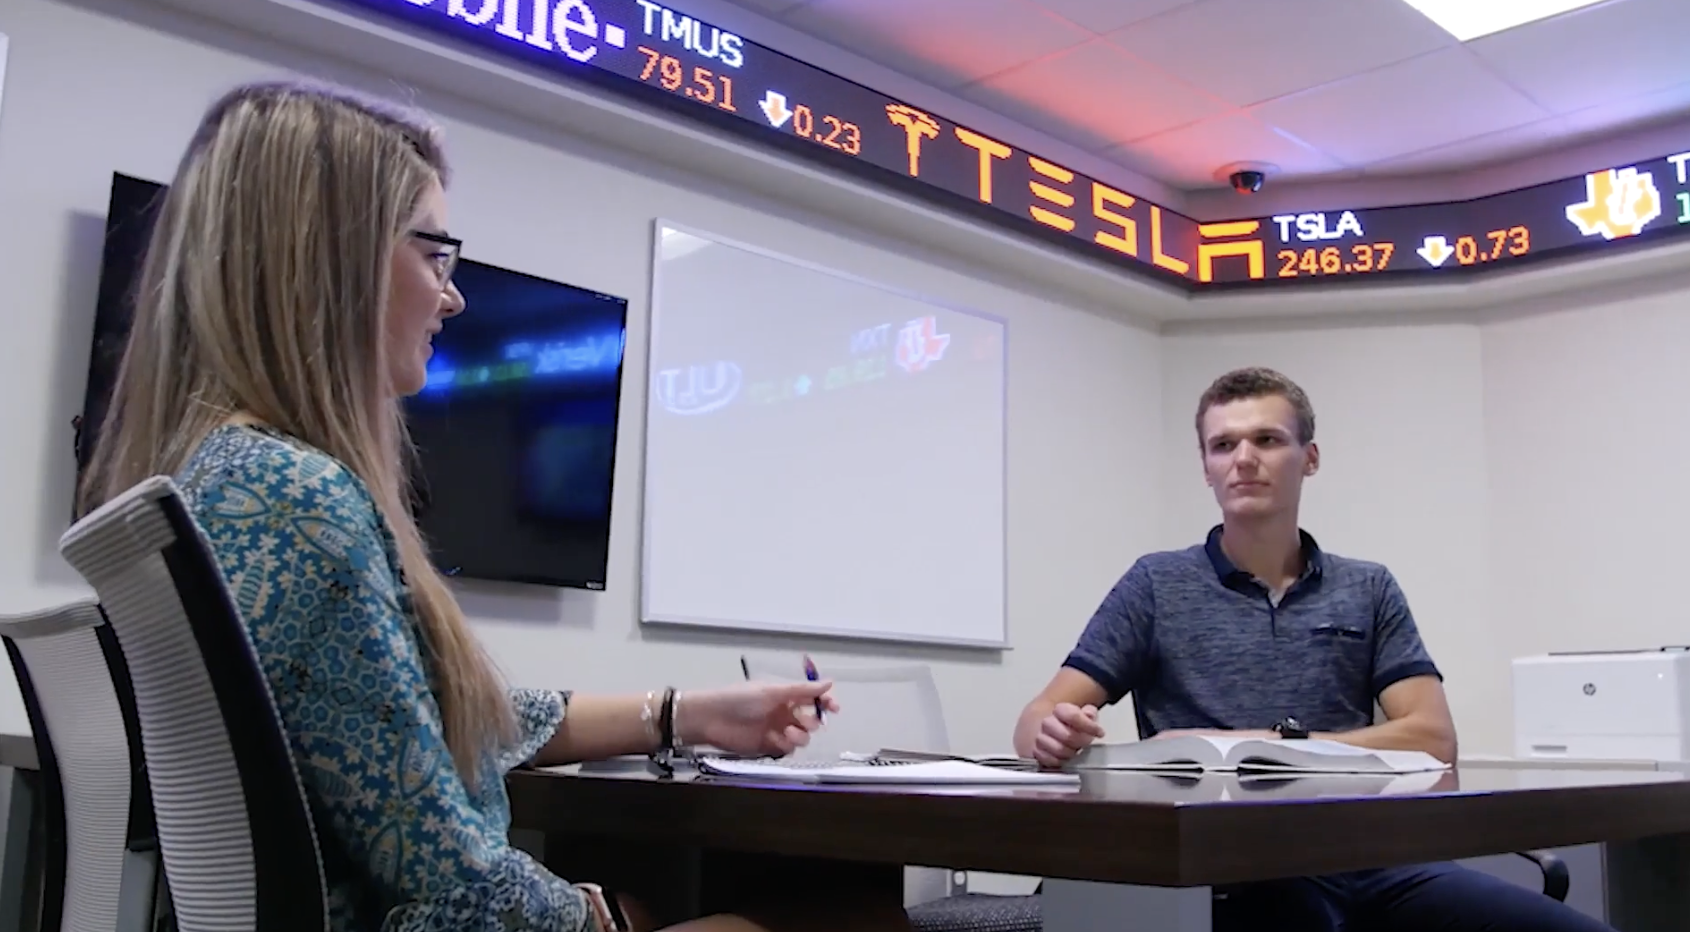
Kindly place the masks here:
[(1110, 149), (1104, 156), (1176, 188), (1224, 188), (1215, 169), (1230, 162), (1269, 162), (1281, 176), (1330, 174), (1344, 169), (1335, 159), (1288, 139), (1249, 113), (1224, 113)]

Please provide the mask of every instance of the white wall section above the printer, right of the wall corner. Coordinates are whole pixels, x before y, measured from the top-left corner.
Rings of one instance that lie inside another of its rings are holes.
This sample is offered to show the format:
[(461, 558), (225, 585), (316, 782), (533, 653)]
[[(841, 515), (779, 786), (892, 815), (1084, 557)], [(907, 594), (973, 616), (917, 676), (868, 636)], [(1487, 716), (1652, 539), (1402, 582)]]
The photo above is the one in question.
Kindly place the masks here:
[(1484, 367), (1511, 653), (1690, 643), (1690, 288), (1491, 323)]

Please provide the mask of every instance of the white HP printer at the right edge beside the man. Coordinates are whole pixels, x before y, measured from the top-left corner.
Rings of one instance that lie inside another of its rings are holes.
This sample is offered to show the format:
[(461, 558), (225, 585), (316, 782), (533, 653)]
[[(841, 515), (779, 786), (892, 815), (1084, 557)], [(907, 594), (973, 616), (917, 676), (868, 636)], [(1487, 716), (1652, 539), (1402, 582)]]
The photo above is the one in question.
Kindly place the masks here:
[(1690, 650), (1516, 658), (1514, 756), (1690, 761)]

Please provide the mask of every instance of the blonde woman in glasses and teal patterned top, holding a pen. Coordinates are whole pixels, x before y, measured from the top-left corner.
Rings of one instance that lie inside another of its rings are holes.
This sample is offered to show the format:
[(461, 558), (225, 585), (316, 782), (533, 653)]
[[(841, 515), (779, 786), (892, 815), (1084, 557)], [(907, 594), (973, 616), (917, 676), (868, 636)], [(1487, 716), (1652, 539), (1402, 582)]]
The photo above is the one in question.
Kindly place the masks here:
[(79, 504), (183, 487), (323, 814), (333, 929), (590, 932), (593, 902), (507, 842), (510, 768), (666, 737), (779, 754), (835, 702), (826, 683), (500, 682), (407, 506), (401, 397), (465, 310), (446, 174), (438, 130), (397, 107), (292, 83), (218, 100), (161, 206)]

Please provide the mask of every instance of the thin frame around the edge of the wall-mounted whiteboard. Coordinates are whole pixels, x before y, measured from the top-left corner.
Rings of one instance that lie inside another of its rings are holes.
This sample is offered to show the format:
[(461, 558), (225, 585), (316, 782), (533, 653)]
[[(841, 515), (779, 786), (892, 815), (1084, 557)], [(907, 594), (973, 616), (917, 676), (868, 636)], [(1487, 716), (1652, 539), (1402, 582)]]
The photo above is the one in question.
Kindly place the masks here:
[[(1004, 372), (1002, 372), (1002, 379), (1004, 379), (1002, 381), (1002, 392), (1004, 392), (1004, 397), (1000, 401), (1002, 401), (1002, 411), (1004, 411), (1004, 441), (1002, 441), (1002, 450), (999, 452), (999, 455), (1002, 457), (1002, 475), (1004, 475), (1004, 489), (1002, 489), (1002, 509), (1004, 509), (1004, 514), (1002, 514), (1002, 528), (1004, 528), (1004, 543), (1002, 543), (1004, 592), (1002, 592), (1002, 604), (1004, 604), (1004, 612), (1002, 612), (1002, 617), (999, 619), (999, 638), (997, 639), (943, 638), (943, 636), (935, 636), (935, 634), (908, 634), (908, 633), (901, 633), (901, 631), (872, 631), (872, 629), (810, 626), (810, 624), (771, 624), (771, 622), (742, 621), (742, 619), (723, 619), (723, 617), (693, 617), (693, 616), (652, 614), (649, 611), (649, 606), (651, 606), (651, 548), (646, 546), (646, 541), (651, 538), (651, 518), (652, 516), (651, 516), (651, 507), (647, 506), (649, 497), (646, 494), (647, 492), (646, 477), (647, 477), (647, 472), (649, 472), (646, 469), (646, 457), (647, 457), (646, 452), (651, 448), (651, 421), (652, 421), (652, 418), (651, 418), (651, 404), (652, 404), (651, 399), (652, 399), (652, 360), (654, 360), (652, 350), (657, 345), (657, 308), (662, 303), (662, 274), (661, 274), (661, 269), (662, 269), (662, 230), (664, 228), (676, 230), (679, 233), (688, 233), (688, 235), (693, 235), (693, 237), (698, 237), (698, 238), (703, 238), (703, 240), (710, 240), (710, 242), (718, 244), (718, 245), (727, 245), (727, 247), (732, 247), (732, 249), (742, 249), (745, 252), (750, 252), (750, 254), (755, 254), (755, 255), (762, 255), (766, 259), (776, 259), (779, 262), (789, 262), (789, 264), (798, 266), (801, 269), (810, 269), (813, 272), (821, 272), (825, 276), (833, 276), (837, 279), (843, 279), (843, 281), (848, 281), (848, 282), (869, 286), (869, 288), (874, 288), (874, 289), (879, 289), (879, 291), (886, 291), (889, 294), (897, 294), (901, 298), (908, 298), (911, 301), (918, 301), (918, 303), (923, 303), (923, 304), (931, 304), (935, 308), (943, 308), (943, 310), (951, 311), (951, 313), (967, 315), (967, 316), (979, 318), (979, 320), (989, 320), (989, 321), (997, 323), (1002, 328), (1002, 332), (1004, 332), (1004, 364), (1002, 364), (1004, 365)], [(698, 227), (691, 227), (688, 223), (679, 223), (679, 222), (674, 222), (674, 220), (666, 220), (662, 217), (657, 217), (657, 218), (652, 220), (652, 235), (651, 235), (651, 240), (652, 240), (651, 242), (651, 298), (649, 298), (649, 304), (646, 308), (646, 372), (644, 372), (644, 409), (642, 409), (644, 425), (642, 425), (642, 430), (641, 430), (641, 479), (639, 479), (639, 484), (641, 484), (639, 621), (641, 621), (641, 624), (642, 626), (647, 626), (647, 624), (649, 626), (664, 626), (664, 628), (695, 628), (695, 629), (705, 628), (705, 629), (718, 629), (718, 631), (754, 631), (754, 633), (766, 633), (766, 634), (799, 634), (799, 636), (838, 638), (838, 639), (847, 639), (847, 641), (870, 641), (870, 643), (933, 644), (933, 646), (943, 646), (943, 648), (977, 648), (977, 650), (990, 650), (990, 651), (1009, 651), (1009, 650), (1014, 650), (1014, 644), (1011, 644), (1011, 641), (1009, 641), (1009, 320), (1006, 320), (1006, 318), (1002, 318), (999, 315), (992, 315), (992, 313), (985, 313), (985, 311), (977, 311), (973, 308), (963, 308), (963, 306), (955, 304), (951, 301), (935, 301), (935, 299), (928, 298), (926, 294), (921, 294), (921, 293), (916, 293), (916, 291), (909, 291), (909, 289), (902, 289), (902, 288), (894, 288), (891, 284), (886, 284), (886, 282), (880, 282), (880, 281), (875, 281), (875, 279), (869, 279), (869, 277), (864, 277), (864, 276), (857, 276), (857, 274), (852, 274), (852, 272), (833, 269), (833, 267), (823, 266), (820, 262), (811, 262), (808, 259), (799, 259), (796, 255), (791, 255), (791, 254), (786, 254), (786, 252), (777, 252), (777, 250), (766, 249), (766, 247), (760, 247), (760, 245), (754, 245), (754, 244), (749, 244), (749, 242), (744, 242), (744, 240), (735, 240), (732, 237), (723, 237), (723, 235), (718, 235), (718, 233), (711, 233), (711, 232), (701, 230)]]

